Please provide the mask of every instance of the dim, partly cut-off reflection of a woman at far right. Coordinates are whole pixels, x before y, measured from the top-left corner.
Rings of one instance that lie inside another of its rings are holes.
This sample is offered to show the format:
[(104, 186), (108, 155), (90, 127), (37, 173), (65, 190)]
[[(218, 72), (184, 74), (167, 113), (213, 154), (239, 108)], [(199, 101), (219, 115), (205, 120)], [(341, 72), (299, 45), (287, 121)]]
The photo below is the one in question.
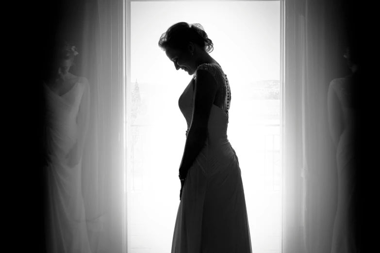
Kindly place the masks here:
[(336, 165), (338, 169), (338, 206), (334, 221), (331, 253), (353, 253), (357, 251), (355, 235), (355, 192), (356, 158), (354, 154), (355, 116), (353, 90), (358, 65), (347, 49), (347, 59), (352, 74), (330, 82), (328, 93), (328, 111), (330, 134), (336, 147)]

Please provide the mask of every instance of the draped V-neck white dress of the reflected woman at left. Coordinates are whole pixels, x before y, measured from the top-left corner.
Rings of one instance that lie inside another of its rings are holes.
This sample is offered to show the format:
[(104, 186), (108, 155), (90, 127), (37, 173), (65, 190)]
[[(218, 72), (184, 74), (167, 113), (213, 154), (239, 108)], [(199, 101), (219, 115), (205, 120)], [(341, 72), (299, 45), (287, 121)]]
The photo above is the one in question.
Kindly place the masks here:
[(77, 140), (76, 118), (86, 79), (57, 95), (45, 84), (49, 165), (46, 179), (47, 253), (91, 253), (88, 243), (83, 196), (82, 159), (71, 167), (66, 158)]

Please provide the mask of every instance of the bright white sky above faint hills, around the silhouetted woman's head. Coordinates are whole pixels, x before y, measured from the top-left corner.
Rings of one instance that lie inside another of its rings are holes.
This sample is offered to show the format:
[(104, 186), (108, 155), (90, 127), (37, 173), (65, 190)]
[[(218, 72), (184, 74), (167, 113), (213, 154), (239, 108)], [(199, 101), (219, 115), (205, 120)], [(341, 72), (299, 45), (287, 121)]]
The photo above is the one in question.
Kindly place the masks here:
[[(163, 32), (177, 22), (199, 23), (214, 42), (211, 56), (235, 82), (279, 79), (278, 1), (131, 2), (131, 81), (165, 84), (191, 79), (158, 47)], [(182, 10), (182, 11), (178, 11)]]

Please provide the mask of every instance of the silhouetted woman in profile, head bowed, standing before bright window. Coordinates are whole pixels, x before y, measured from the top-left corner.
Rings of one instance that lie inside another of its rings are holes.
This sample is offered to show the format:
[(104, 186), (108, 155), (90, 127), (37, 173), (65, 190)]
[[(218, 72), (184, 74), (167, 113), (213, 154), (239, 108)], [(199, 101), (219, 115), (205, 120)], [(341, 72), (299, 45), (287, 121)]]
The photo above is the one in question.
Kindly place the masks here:
[(176, 70), (193, 75), (179, 98), (188, 129), (171, 252), (251, 253), (239, 161), (227, 138), (230, 85), (209, 55), (213, 42), (201, 25), (180, 22), (159, 46)]

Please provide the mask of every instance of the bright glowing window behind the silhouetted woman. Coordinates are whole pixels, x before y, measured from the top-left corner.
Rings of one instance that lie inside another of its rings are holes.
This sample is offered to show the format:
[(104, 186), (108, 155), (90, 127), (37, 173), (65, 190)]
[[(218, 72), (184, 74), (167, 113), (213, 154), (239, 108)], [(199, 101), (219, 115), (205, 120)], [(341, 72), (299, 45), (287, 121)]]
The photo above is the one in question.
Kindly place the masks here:
[(128, 253), (167, 253), (187, 129), (178, 99), (191, 76), (158, 40), (200, 23), (231, 85), (228, 139), (239, 158), (254, 253), (281, 252), (280, 1), (132, 1)]

